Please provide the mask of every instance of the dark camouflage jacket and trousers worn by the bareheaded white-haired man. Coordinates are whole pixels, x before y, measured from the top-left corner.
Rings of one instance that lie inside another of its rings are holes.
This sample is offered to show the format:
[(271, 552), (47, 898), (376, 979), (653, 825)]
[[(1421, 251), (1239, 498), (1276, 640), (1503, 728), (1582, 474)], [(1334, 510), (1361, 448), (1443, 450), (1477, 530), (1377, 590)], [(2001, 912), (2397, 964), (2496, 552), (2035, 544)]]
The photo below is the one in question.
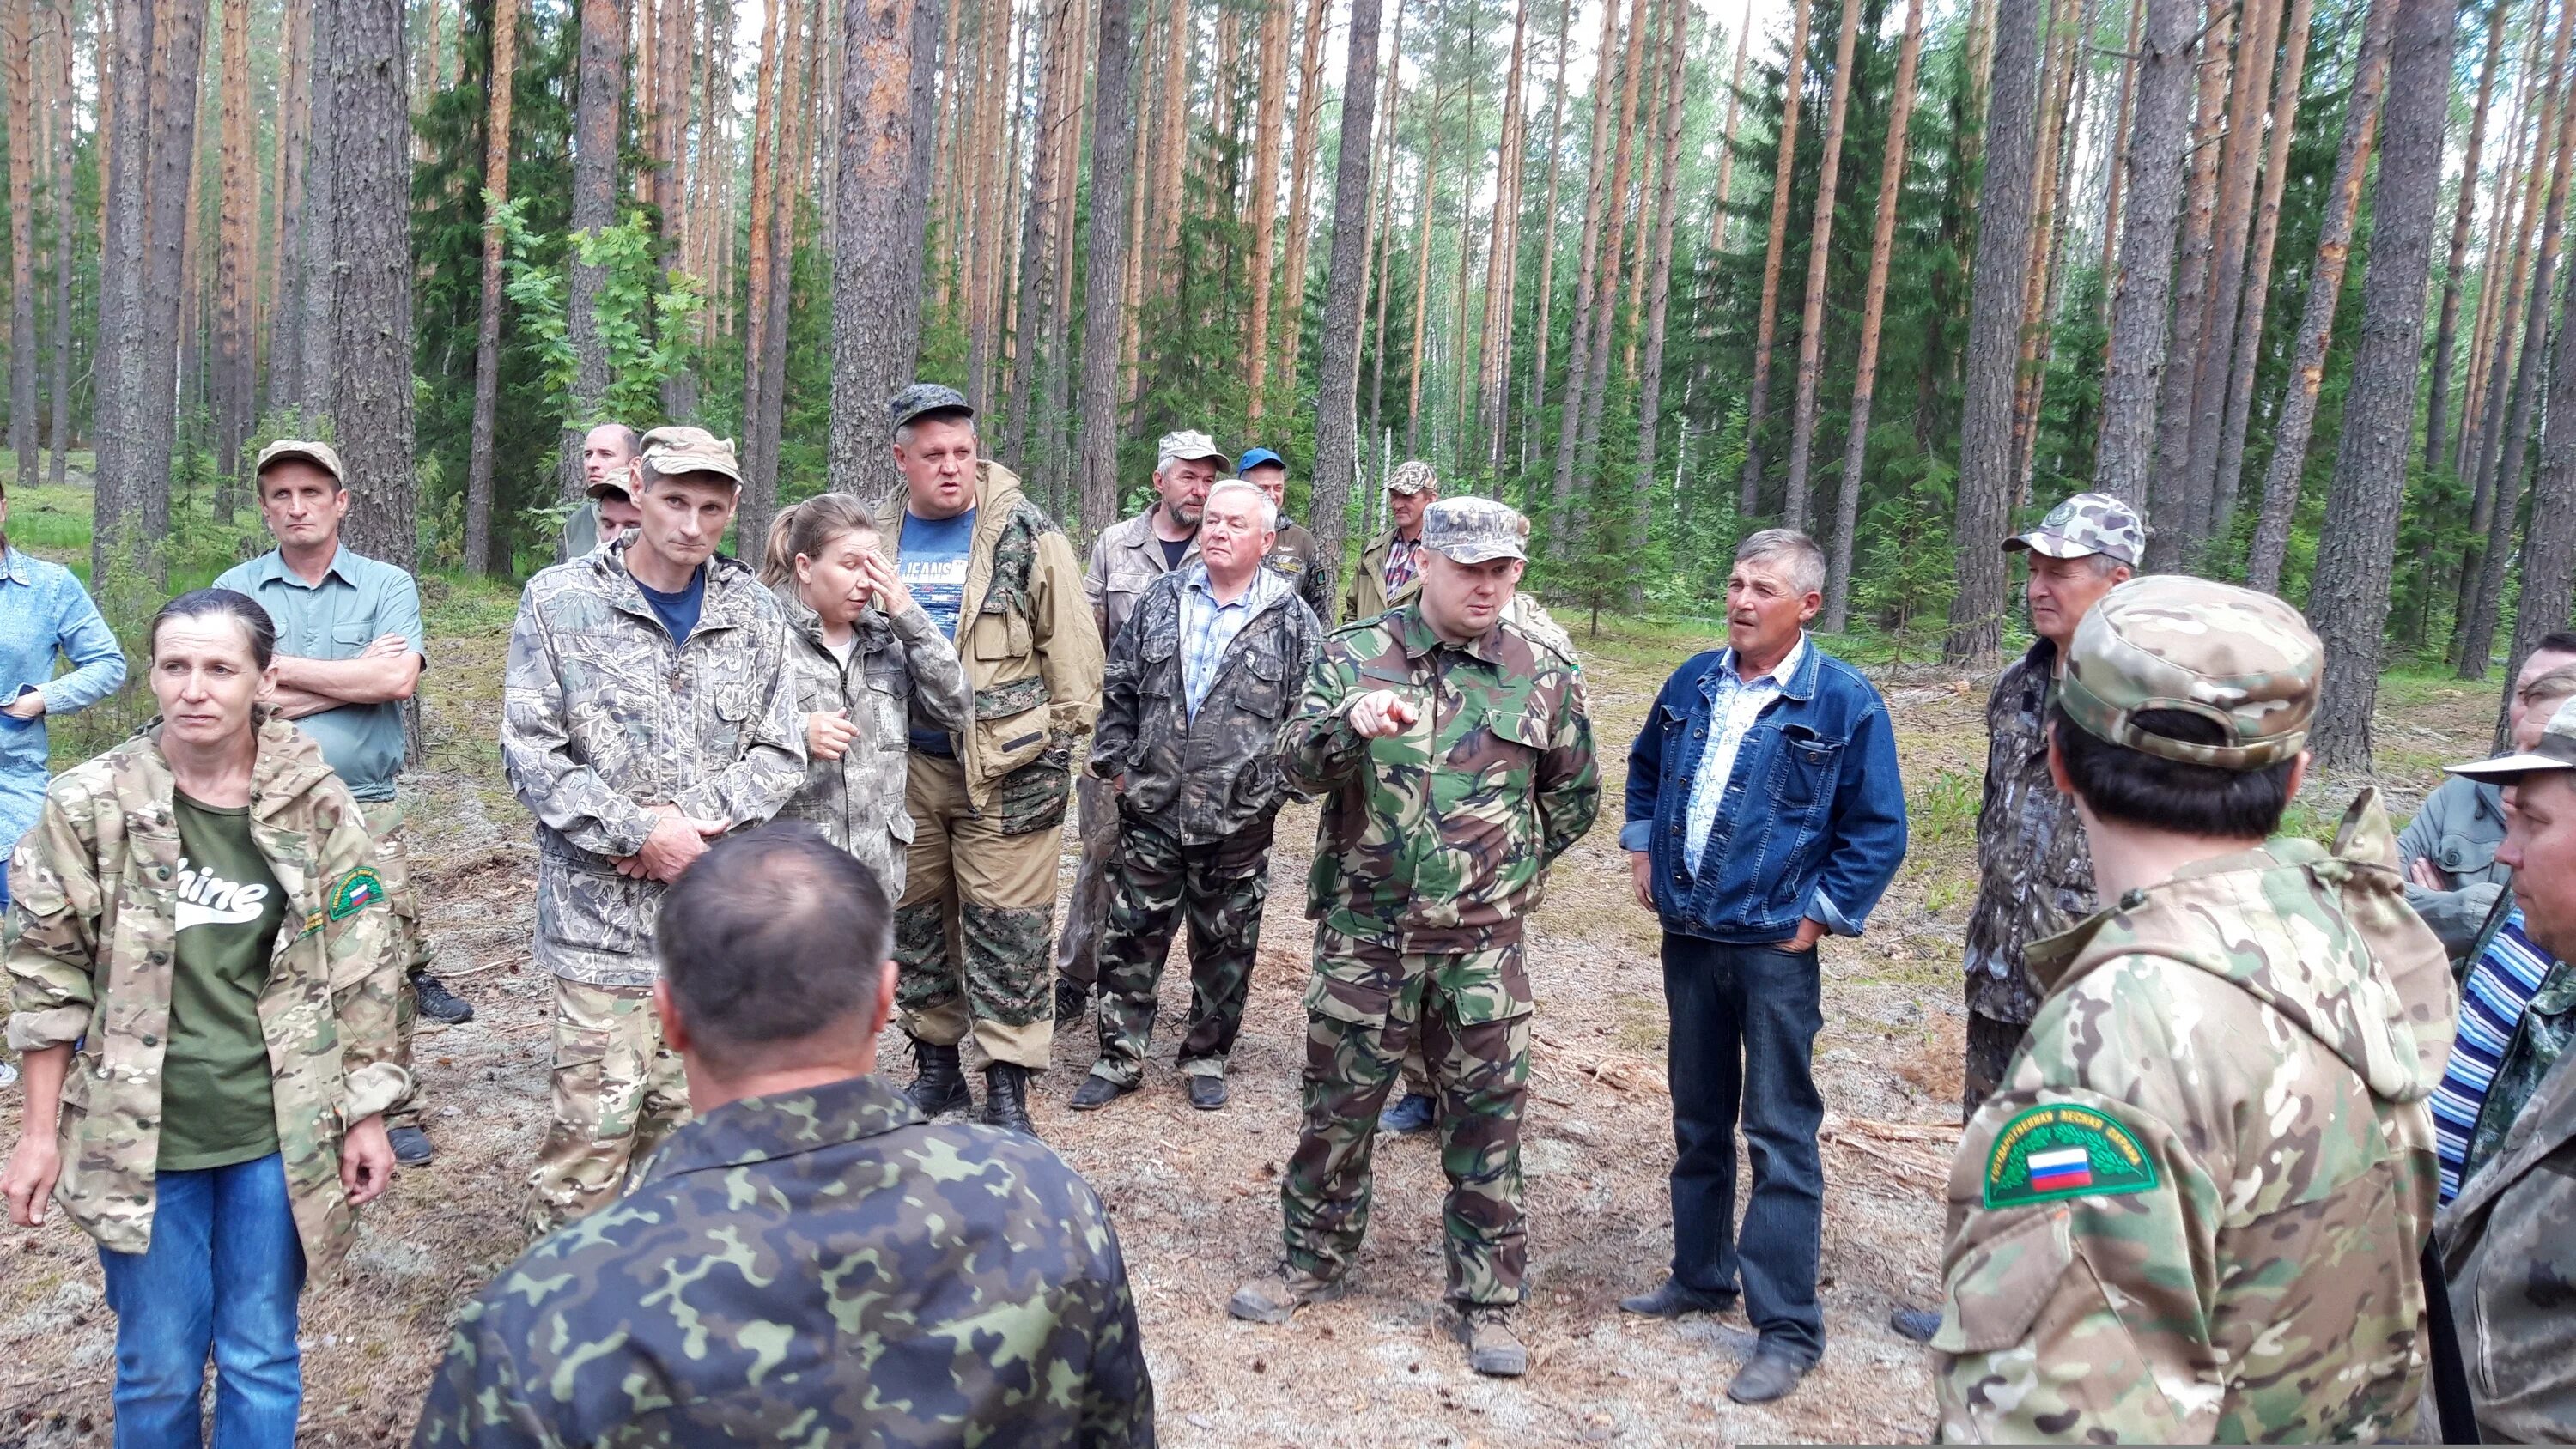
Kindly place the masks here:
[(1092, 775), (1126, 777), (1110, 906), (1100, 929), (1100, 1060), (1092, 1076), (1136, 1086), (1154, 1032), (1172, 919), (1190, 921), (1190, 1024), (1180, 1071), (1224, 1076), (1244, 1019), (1270, 898), (1270, 834), (1288, 800), (1280, 721), (1321, 643), (1321, 625), (1275, 574), (1252, 577), (1252, 618), (1213, 661), (1193, 713), (1182, 682), (1182, 610), (1200, 564), (1164, 574), (1110, 646)]

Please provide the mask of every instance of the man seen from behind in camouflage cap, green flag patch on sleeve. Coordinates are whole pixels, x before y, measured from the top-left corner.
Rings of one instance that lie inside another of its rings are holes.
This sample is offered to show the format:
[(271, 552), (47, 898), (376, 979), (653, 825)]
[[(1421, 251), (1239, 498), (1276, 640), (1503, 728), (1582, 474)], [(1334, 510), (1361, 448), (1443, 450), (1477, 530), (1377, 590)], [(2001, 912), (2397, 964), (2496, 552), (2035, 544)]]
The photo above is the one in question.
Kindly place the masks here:
[(2427, 1380), (2442, 945), (2378, 798), (2275, 834), (2324, 646), (2228, 584), (2120, 584), (2076, 628), (2050, 772), (2112, 906), (1950, 1171), (1945, 1441), (2406, 1441)]

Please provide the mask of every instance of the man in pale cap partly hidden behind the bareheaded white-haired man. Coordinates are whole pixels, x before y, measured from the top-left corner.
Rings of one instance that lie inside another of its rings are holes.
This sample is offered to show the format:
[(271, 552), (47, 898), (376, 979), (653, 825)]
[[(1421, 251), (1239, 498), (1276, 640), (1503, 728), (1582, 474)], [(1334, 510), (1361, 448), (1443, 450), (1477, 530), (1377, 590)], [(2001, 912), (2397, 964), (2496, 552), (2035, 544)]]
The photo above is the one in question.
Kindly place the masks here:
[[(1206, 432), (1164, 432), (1154, 448), (1154, 502), (1126, 522), (1113, 522), (1092, 540), (1082, 592), (1092, 602), (1103, 649), (1118, 643), (1136, 600), (1157, 579), (1198, 558), (1198, 510), (1208, 486), (1231, 466)], [(1105, 780), (1084, 777), (1082, 865), (1074, 870), (1074, 896), (1064, 906), (1064, 934), (1056, 939), (1056, 1019), (1082, 1014), (1082, 1001), (1100, 978), (1100, 914), (1110, 903), (1110, 847), (1118, 842), (1118, 800)]]

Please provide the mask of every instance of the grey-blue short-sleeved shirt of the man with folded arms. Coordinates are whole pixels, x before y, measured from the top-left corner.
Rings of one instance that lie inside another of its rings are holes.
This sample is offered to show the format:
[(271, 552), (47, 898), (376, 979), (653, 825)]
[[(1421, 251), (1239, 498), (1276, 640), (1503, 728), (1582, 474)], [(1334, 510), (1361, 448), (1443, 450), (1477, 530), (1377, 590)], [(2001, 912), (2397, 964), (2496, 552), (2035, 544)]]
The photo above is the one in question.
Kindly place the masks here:
[[(355, 659), (386, 633), (412, 641), (428, 661), (420, 631), (420, 584), (392, 564), (350, 553), (343, 543), (319, 584), (307, 584), (276, 548), (234, 564), (214, 582), (250, 595), (278, 625), (278, 654), (296, 659)], [(322, 759), (361, 800), (392, 800), (402, 775), (402, 705), (340, 705), (296, 721)]]

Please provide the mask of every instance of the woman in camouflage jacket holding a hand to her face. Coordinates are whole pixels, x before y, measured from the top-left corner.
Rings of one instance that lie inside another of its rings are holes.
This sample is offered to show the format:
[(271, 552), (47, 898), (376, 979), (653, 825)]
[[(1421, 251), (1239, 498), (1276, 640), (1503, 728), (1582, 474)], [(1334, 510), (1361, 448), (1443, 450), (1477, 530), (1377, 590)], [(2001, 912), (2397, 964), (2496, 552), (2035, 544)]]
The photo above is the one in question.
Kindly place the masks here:
[(878, 551), (876, 520), (848, 494), (817, 494), (770, 522), (760, 582), (788, 615), (806, 780), (778, 818), (814, 821), (904, 893), (904, 759), (912, 697), (940, 728), (974, 723), (966, 667)]

